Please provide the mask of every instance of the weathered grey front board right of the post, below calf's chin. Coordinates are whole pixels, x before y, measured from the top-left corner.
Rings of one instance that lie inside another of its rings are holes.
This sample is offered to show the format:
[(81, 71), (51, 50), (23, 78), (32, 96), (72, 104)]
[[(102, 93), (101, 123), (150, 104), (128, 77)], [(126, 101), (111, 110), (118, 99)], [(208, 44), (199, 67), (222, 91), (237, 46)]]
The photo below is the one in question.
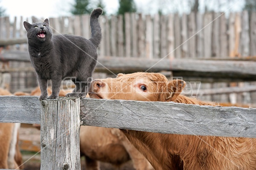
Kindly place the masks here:
[(82, 99), (83, 125), (155, 133), (256, 138), (256, 108)]

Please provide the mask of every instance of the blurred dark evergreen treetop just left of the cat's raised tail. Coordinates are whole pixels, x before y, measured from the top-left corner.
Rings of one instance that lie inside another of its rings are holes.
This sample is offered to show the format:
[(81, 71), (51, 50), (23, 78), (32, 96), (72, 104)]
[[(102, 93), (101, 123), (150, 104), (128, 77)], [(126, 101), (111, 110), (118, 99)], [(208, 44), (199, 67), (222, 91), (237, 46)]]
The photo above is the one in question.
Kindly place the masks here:
[(75, 0), (71, 13), (74, 15), (90, 14), (93, 9), (89, 6), (90, 0)]

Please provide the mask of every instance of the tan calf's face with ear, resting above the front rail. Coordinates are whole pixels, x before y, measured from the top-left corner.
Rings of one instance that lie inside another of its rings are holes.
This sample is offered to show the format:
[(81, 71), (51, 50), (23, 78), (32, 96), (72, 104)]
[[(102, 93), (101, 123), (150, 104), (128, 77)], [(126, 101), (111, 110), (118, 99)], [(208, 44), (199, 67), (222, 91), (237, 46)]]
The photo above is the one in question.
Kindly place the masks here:
[(160, 73), (137, 72), (94, 80), (88, 93), (98, 99), (174, 101), (185, 85), (182, 80), (168, 81)]

